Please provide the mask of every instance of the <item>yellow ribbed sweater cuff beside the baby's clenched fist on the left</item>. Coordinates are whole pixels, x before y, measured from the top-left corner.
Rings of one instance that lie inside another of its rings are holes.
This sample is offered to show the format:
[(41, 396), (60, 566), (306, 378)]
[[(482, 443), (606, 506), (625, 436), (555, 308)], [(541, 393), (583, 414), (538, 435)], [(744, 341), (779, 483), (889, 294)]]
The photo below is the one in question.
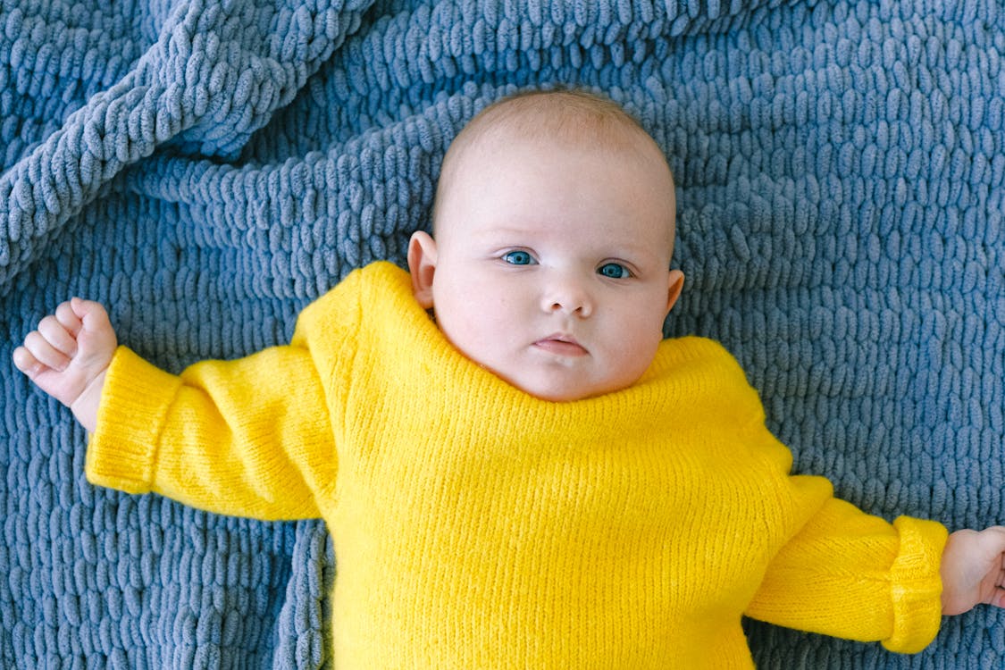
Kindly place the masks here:
[(126, 347), (116, 350), (87, 445), (87, 481), (127, 493), (150, 491), (168, 408), (181, 380)]

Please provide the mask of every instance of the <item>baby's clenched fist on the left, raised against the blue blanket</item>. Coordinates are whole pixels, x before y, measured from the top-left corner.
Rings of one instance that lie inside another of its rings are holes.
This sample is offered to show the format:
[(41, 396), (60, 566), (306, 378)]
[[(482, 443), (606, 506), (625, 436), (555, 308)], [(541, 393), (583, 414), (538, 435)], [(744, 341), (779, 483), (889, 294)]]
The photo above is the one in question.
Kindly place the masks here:
[(74, 297), (28, 333), (24, 346), (14, 350), (14, 365), (93, 432), (105, 373), (117, 346), (105, 307)]

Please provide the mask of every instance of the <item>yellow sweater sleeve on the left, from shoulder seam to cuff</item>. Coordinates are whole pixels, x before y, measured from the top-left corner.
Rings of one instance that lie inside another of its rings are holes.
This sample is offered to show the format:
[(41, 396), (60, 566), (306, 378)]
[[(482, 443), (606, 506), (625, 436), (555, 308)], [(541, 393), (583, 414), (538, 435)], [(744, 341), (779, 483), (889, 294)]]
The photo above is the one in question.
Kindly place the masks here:
[(91, 483), (263, 520), (316, 518), (333, 499), (359, 327), (356, 271), (301, 312), (289, 346), (180, 376), (120, 348), (90, 437)]

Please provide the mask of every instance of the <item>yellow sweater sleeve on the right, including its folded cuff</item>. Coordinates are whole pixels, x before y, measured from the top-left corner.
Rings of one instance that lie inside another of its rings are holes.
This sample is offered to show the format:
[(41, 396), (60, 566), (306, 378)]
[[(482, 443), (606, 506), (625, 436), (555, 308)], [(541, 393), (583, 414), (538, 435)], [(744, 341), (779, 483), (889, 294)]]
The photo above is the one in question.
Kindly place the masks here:
[[(793, 477), (797, 488), (803, 479)], [(892, 524), (827, 499), (769, 566), (747, 614), (770, 623), (921, 651), (939, 632), (946, 528)]]

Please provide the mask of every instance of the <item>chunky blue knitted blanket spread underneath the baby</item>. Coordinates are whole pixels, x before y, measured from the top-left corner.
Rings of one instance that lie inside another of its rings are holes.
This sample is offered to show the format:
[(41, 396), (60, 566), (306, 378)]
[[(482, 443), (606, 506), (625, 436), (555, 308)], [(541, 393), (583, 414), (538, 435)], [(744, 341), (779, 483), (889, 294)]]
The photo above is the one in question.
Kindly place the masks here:
[[(89, 5), (89, 6), (88, 6)], [(0, 666), (331, 665), (319, 522), (83, 478), (10, 363), (73, 294), (160, 366), (286, 341), (403, 262), (445, 147), (529, 85), (606, 91), (676, 174), (669, 336), (723, 341), (799, 472), (887, 518), (1005, 521), (999, 0), (0, 0)], [(1001, 667), (747, 622), (765, 668)]]

